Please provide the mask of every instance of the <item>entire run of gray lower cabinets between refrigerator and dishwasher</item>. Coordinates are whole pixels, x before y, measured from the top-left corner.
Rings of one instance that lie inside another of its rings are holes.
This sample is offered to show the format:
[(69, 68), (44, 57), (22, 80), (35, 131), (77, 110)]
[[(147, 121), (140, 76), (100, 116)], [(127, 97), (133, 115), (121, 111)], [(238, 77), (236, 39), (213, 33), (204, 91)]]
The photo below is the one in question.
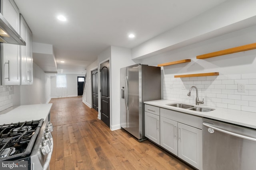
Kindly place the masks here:
[(150, 105), (145, 105), (145, 136), (202, 170), (202, 117), (159, 107), (158, 115), (147, 112), (147, 108)]

